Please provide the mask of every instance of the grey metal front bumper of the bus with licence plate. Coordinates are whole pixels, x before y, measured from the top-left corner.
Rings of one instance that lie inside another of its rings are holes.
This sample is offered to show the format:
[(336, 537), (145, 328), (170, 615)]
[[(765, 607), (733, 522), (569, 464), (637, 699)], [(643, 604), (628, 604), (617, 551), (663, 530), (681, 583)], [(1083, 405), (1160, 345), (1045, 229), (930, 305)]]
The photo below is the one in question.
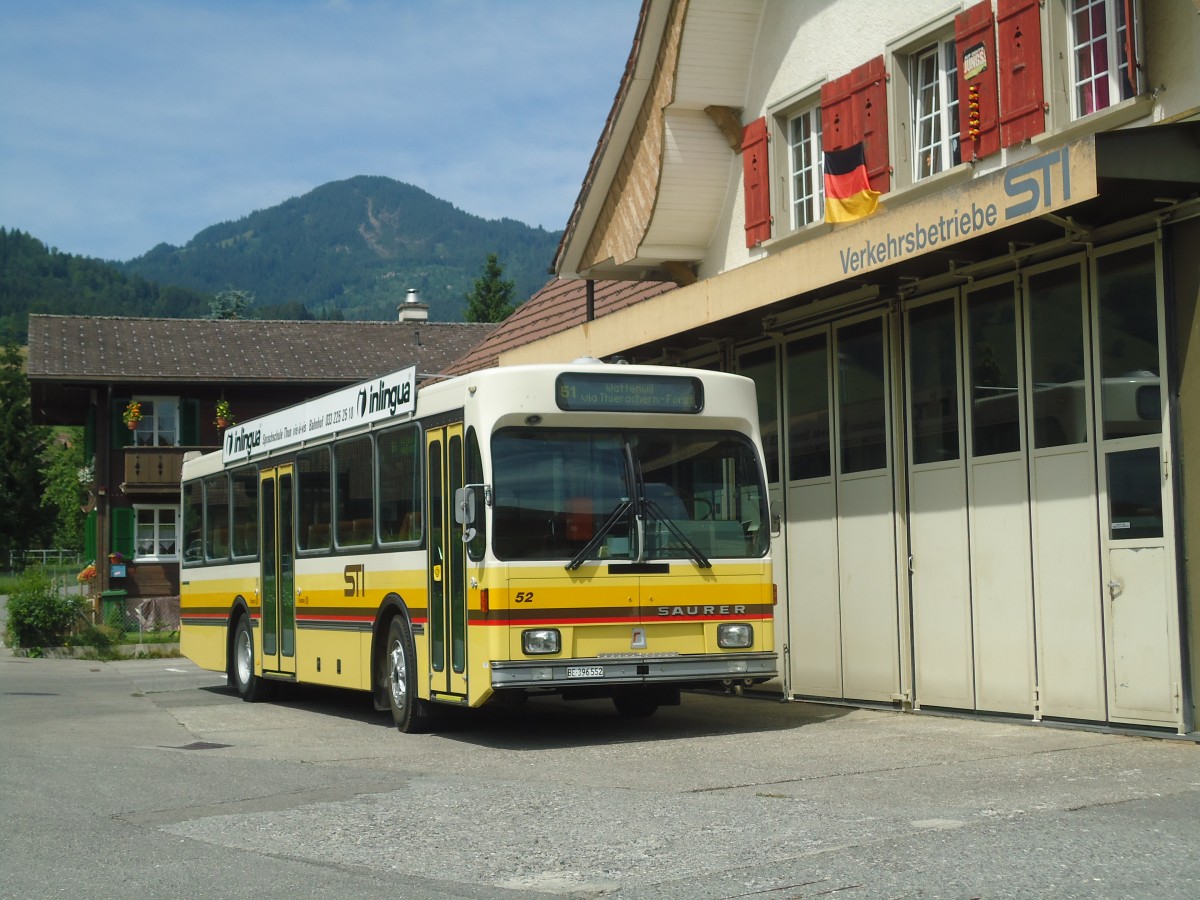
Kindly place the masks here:
[(491, 670), (494, 690), (583, 688), (606, 684), (748, 683), (764, 682), (779, 674), (774, 653), (492, 661)]

